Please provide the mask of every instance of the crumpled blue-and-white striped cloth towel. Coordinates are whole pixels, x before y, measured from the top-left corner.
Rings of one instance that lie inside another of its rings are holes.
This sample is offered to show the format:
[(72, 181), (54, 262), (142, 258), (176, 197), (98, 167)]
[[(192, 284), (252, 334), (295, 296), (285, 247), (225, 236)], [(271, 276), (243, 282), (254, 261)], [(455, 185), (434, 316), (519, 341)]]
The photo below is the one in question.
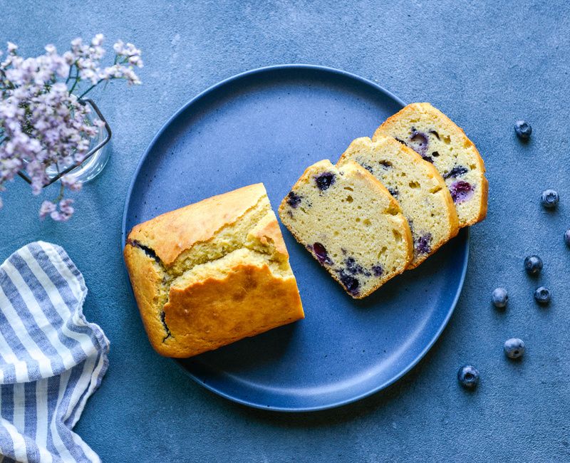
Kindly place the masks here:
[(72, 431), (108, 366), (109, 341), (83, 316), (86, 294), (83, 276), (53, 244), (28, 244), (0, 266), (4, 463), (100, 462)]

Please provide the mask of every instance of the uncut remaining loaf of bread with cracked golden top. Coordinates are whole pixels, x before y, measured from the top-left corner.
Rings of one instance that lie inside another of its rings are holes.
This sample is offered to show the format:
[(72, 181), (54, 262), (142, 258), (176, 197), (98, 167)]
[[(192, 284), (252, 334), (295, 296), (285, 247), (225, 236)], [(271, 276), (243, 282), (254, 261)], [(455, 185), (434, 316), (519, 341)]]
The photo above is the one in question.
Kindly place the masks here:
[(162, 214), (124, 250), (150, 343), (190, 357), (304, 317), (263, 184)]

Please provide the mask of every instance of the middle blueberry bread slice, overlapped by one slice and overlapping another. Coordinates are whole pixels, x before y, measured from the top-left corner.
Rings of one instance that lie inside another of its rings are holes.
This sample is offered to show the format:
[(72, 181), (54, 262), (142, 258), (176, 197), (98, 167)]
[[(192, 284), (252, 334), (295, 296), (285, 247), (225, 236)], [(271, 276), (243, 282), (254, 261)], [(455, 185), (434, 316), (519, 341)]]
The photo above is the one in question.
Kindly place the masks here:
[(374, 175), (400, 203), (414, 241), (408, 268), (420, 265), (457, 235), (457, 212), (445, 181), (417, 152), (393, 137), (378, 135), (375, 142), (368, 137), (353, 140), (338, 160), (338, 168), (351, 160)]

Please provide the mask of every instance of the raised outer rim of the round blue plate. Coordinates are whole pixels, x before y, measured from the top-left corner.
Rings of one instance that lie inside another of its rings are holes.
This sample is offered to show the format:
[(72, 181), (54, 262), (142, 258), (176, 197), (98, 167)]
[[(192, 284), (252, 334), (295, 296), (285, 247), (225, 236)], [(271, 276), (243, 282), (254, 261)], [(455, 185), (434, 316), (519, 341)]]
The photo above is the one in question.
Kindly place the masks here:
[[(378, 85), (377, 83), (372, 82), (371, 80), (368, 80), (368, 79), (363, 78), (361, 76), (357, 76), (356, 74), (349, 73), (347, 71), (342, 71), (341, 69), (331, 68), (328, 66), (320, 66), (320, 65), (316, 65), (316, 64), (295, 64), (295, 63), (276, 64), (273, 66), (264, 66), (261, 68), (254, 68), (254, 69), (251, 69), (249, 71), (244, 71), (242, 73), (238, 73), (238, 74), (231, 76), (229, 78), (226, 78), (224, 80), (220, 80), (218, 83), (211, 85), (206, 90), (203, 90), (202, 92), (198, 93), (195, 97), (191, 98), (187, 103), (185, 103), (185, 105), (182, 105), (182, 107), (179, 110), (177, 110), (172, 116), (170, 116), (170, 118), (168, 118), (167, 121), (162, 125), (160, 130), (158, 130), (156, 135), (154, 137), (152, 137), (152, 140), (150, 140), (150, 143), (147, 146), (147, 149), (142, 154), (142, 157), (140, 157), (140, 160), (139, 160), (138, 165), (135, 169), (135, 172), (133, 172), (133, 177), (131, 177), (130, 184), (129, 184), (129, 187), (127, 190), (127, 196), (125, 198), (125, 206), (123, 208), (123, 221), (121, 224), (121, 244), (120, 244), (121, 252), (123, 251), (123, 249), (125, 247), (125, 242), (127, 239), (127, 229), (126, 229), (127, 228), (127, 215), (128, 215), (128, 209), (130, 206), (130, 199), (133, 196), (133, 189), (135, 187), (135, 183), (138, 179), (138, 176), (140, 175), (140, 170), (142, 169), (142, 165), (145, 164), (147, 156), (154, 149), (155, 144), (156, 144), (157, 140), (159, 140), (159, 138), (162, 136), (162, 133), (165, 132), (165, 130), (167, 130), (167, 128), (172, 123), (174, 123), (174, 121), (182, 113), (185, 113), (185, 111), (187, 111), (189, 108), (191, 108), (192, 105), (195, 105), (199, 100), (204, 98), (206, 95), (209, 95), (209, 93), (216, 91), (217, 89), (223, 87), (224, 85), (228, 85), (229, 83), (232, 83), (235, 80), (239, 80), (241, 78), (245, 78), (245, 77), (249, 77), (249, 76), (254, 76), (256, 74), (278, 71), (279, 69), (291, 69), (291, 68), (296, 68), (299, 70), (322, 71), (323, 73), (336, 74), (338, 76), (343, 76), (345, 78), (351, 78), (353, 80), (357, 80), (358, 82), (360, 82), (364, 85), (368, 85), (368, 87), (371, 87), (374, 90), (376, 90), (380, 93), (383, 93), (388, 98), (391, 98), (391, 99), (397, 101), (400, 105), (405, 106), (405, 103), (403, 102), (403, 100), (401, 100), (396, 95), (394, 95), (390, 91), (386, 90), (382, 86)], [(259, 410), (271, 410), (271, 411), (275, 411), (275, 412), (316, 412), (316, 411), (320, 411), (320, 410), (329, 410), (331, 408), (341, 407), (343, 405), (348, 405), (348, 404), (351, 404), (353, 402), (358, 402), (358, 400), (362, 400), (365, 397), (369, 397), (369, 396), (371, 396), (377, 392), (380, 392), (380, 390), (383, 390), (386, 387), (393, 385), (398, 380), (400, 380), (400, 378), (402, 378), (404, 375), (406, 375), (406, 373), (408, 373), (410, 370), (412, 370), (412, 368), (414, 368), (415, 365), (418, 365), (420, 360), (422, 360), (425, 357), (425, 354), (427, 354), (427, 352), (435, 344), (435, 341), (438, 338), (440, 338), (441, 333), (445, 330), (447, 323), (449, 323), (450, 318), (451, 318), (453, 312), (455, 311), (455, 307), (457, 306), (457, 301), (459, 301), (461, 291), (462, 291), (463, 285), (465, 283), (465, 275), (467, 274), (467, 264), (469, 263), (470, 231), (469, 231), (468, 227), (465, 229), (465, 234), (467, 235), (467, 236), (465, 236), (465, 245), (464, 245), (465, 261), (464, 261), (463, 268), (461, 271), (460, 281), (459, 281), (459, 284), (457, 285), (457, 291), (455, 293), (455, 297), (453, 298), (453, 302), (452, 302), (449, 310), (447, 311), (447, 315), (445, 316), (445, 319), (442, 321), (440, 327), (437, 329), (437, 332), (432, 336), (432, 338), (430, 339), (430, 342), (425, 345), (423, 350), (420, 353), (418, 353), (418, 355), (416, 355), (416, 357), (412, 361), (410, 361), (410, 363), (408, 363), (408, 365), (406, 365), (405, 368), (400, 370), (400, 373), (393, 375), (391, 378), (384, 381), (380, 385), (373, 387), (371, 390), (363, 392), (360, 395), (349, 397), (346, 400), (338, 400), (336, 402), (326, 403), (324, 405), (315, 405), (314, 407), (273, 407), (271, 405), (264, 405), (264, 404), (260, 404), (257, 402), (250, 402), (248, 400), (244, 400), (242, 398), (235, 397), (233, 395), (229, 395), (227, 392), (224, 392), (223, 390), (220, 390), (219, 388), (212, 387), (212, 385), (204, 383), (202, 380), (197, 378), (197, 376), (193, 375), (192, 373), (190, 373), (190, 371), (188, 371), (186, 368), (184, 368), (180, 364), (180, 362), (177, 361), (177, 359), (172, 358), (170, 360), (172, 360), (172, 362), (175, 363), (175, 365), (177, 365), (177, 367), (180, 368), (180, 370), (182, 370), (182, 372), (185, 373), (185, 375), (192, 378), (192, 380), (195, 380), (196, 383), (198, 383), (202, 387), (205, 387), (207, 390), (214, 392), (215, 394), (217, 394), (221, 397), (225, 397), (228, 400), (232, 400), (232, 402), (237, 402), (239, 404), (247, 405), (248, 407), (257, 408)], [(125, 268), (125, 272), (126, 272), (126, 266), (123, 265), (123, 267)], [(132, 293), (132, 291), (133, 290), (131, 288), (131, 293)]]

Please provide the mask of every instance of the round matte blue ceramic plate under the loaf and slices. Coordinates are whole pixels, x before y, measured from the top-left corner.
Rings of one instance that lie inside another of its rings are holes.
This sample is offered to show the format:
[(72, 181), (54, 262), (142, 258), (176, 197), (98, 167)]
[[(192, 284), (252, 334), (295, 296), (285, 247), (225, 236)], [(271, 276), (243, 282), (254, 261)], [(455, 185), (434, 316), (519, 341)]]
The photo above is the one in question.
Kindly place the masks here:
[[(140, 161), (126, 231), (162, 212), (264, 182), (274, 208), (305, 168), (371, 136), (401, 100), (374, 83), (319, 66), (272, 66), (198, 95), (158, 132)], [(209, 390), (252, 407), (321, 410), (394, 383), (449, 320), (467, 268), (468, 233), (414, 271), (355, 301), (289, 231), (306, 318), (214, 352), (177, 360)]]

